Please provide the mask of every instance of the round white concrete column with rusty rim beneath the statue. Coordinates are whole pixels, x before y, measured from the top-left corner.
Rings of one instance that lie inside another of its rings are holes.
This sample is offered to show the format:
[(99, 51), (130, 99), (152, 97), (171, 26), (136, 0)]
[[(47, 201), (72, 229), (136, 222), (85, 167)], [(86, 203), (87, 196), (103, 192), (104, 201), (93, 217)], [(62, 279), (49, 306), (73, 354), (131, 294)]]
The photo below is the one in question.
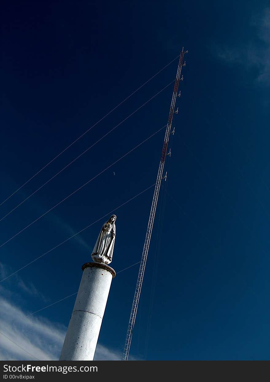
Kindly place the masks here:
[(82, 265), (82, 279), (60, 361), (92, 361), (115, 271), (108, 265)]

